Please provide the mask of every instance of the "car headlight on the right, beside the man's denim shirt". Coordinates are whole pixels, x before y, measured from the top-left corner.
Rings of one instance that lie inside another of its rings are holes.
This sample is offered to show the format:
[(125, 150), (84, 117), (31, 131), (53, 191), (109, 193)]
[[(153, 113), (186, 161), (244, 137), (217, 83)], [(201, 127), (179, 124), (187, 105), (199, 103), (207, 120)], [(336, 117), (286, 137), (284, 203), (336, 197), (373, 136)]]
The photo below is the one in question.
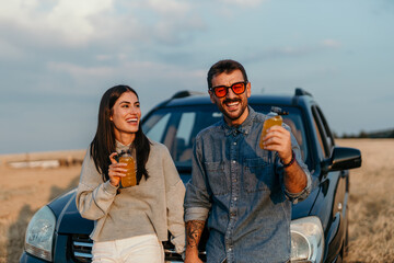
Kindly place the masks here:
[(324, 233), (317, 217), (291, 221), (291, 261), (320, 263), (323, 260)]

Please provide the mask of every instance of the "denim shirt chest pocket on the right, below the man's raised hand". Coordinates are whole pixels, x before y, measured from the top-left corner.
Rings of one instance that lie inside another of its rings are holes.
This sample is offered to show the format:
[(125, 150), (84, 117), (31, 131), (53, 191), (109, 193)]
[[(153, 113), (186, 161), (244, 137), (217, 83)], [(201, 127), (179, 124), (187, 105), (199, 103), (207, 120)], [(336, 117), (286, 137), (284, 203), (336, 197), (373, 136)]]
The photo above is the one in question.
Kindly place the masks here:
[(262, 158), (245, 159), (243, 169), (244, 187), (247, 193), (269, 191), (275, 181), (274, 167)]

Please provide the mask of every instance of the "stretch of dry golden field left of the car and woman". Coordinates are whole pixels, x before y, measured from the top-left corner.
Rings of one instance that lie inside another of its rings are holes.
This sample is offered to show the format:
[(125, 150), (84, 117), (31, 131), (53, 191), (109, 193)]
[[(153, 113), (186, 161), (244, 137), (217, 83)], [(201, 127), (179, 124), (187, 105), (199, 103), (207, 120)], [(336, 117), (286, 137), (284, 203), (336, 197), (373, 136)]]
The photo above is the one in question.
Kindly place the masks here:
[[(49, 201), (77, 186), (84, 151), (0, 156), (0, 262), (19, 262), (27, 224)], [(63, 160), (59, 168), (21, 168), (10, 161)]]

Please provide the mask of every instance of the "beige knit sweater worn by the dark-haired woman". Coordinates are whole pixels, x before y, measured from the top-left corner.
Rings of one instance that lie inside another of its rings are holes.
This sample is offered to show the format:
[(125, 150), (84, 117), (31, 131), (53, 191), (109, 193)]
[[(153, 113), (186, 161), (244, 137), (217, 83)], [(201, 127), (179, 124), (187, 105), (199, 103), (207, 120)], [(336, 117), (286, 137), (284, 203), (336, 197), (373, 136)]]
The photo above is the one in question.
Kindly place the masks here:
[[(117, 142), (117, 151), (128, 149)], [(109, 181), (103, 182), (94, 161), (86, 151), (77, 193), (77, 207), (81, 216), (94, 220), (91, 239), (108, 241), (155, 233), (160, 241), (167, 240), (178, 253), (185, 249), (183, 202), (185, 186), (176, 171), (167, 148), (151, 141), (146, 164), (149, 179), (139, 185), (120, 188)]]

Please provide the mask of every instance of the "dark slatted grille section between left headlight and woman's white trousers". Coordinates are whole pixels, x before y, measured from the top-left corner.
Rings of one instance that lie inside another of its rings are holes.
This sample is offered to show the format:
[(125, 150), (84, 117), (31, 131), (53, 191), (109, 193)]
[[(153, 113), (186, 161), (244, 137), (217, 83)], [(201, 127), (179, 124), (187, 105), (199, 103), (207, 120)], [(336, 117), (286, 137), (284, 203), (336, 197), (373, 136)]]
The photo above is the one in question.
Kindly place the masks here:
[(93, 240), (91, 240), (88, 235), (72, 236), (71, 250), (76, 262), (92, 262), (92, 247)]

